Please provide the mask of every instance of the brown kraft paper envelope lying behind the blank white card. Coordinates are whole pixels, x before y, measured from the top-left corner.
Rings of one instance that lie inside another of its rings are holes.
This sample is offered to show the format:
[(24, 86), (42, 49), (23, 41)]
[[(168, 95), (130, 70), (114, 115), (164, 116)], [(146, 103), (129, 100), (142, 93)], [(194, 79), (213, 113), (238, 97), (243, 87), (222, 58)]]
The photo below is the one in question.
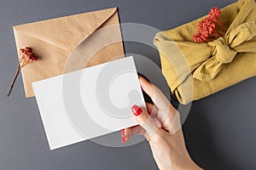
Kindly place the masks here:
[(14, 26), (14, 32), (18, 53), (28, 46), (40, 58), (21, 69), (26, 97), (34, 96), (32, 82), (124, 57), (117, 8)]

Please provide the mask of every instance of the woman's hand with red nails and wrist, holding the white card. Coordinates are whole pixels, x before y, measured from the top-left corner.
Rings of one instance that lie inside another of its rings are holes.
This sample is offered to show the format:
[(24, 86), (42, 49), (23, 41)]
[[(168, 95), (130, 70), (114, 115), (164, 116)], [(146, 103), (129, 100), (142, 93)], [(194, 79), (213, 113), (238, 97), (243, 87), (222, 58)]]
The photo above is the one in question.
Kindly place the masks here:
[(146, 103), (148, 112), (145, 108), (132, 106), (131, 111), (139, 125), (123, 129), (121, 142), (129, 141), (134, 134), (143, 134), (161, 170), (201, 169), (192, 161), (186, 149), (178, 111), (159, 88), (143, 77), (139, 77), (139, 80), (143, 91), (152, 99), (154, 105)]

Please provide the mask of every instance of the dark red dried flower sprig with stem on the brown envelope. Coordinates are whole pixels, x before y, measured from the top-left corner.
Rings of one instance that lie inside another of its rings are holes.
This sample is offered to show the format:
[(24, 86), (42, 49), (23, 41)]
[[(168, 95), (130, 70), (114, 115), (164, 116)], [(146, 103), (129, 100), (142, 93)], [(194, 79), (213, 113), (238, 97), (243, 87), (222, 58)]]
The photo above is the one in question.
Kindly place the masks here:
[(19, 65), (17, 67), (17, 71), (16, 71), (16, 74), (15, 74), (15, 77), (14, 77), (14, 80), (9, 88), (9, 92), (7, 94), (7, 96), (9, 96), (9, 94), (11, 93), (13, 87), (14, 87), (14, 84), (15, 84), (15, 81), (16, 81), (16, 78), (18, 77), (19, 73), (20, 73), (20, 69), (22, 67), (24, 67), (25, 65), (31, 63), (31, 62), (34, 62), (36, 60), (38, 60), (38, 56), (36, 54), (33, 54), (32, 53), (32, 48), (29, 48), (29, 47), (26, 47), (26, 48), (20, 48), (20, 59), (19, 59)]

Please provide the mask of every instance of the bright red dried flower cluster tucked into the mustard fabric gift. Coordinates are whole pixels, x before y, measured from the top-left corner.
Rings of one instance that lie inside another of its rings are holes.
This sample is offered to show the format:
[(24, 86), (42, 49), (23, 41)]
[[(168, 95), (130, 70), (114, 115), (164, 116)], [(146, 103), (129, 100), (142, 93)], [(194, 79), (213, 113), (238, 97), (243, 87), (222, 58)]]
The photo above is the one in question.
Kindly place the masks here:
[(198, 30), (193, 35), (195, 42), (210, 42), (218, 37), (224, 37), (226, 29), (220, 20), (221, 11), (217, 7), (211, 8), (205, 20), (198, 23)]

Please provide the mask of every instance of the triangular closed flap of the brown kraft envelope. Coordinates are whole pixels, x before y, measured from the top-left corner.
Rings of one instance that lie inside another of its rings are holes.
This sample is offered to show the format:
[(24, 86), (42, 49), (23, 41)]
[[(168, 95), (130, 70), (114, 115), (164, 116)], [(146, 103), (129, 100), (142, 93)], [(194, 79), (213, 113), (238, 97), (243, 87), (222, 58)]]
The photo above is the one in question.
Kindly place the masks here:
[[(48, 42), (56, 47), (72, 51), (79, 42), (96, 31), (113, 14), (117, 8), (107, 8), (84, 14), (75, 14), (51, 20), (33, 22), (14, 26), (14, 31)], [(21, 40), (20, 40), (21, 41)]]

